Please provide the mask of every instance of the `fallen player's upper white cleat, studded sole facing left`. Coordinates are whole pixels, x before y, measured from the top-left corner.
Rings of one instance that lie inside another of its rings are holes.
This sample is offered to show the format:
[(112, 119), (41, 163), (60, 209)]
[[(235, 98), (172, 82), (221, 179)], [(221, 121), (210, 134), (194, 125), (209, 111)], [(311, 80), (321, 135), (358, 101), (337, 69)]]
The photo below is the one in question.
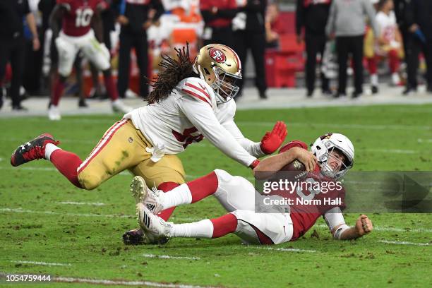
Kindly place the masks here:
[(135, 198), (136, 204), (143, 203), (153, 214), (156, 215), (162, 211), (161, 198), (164, 196), (164, 193), (161, 193), (161, 191), (156, 188), (148, 188), (143, 177), (133, 177), (131, 182), (131, 193), (133, 198)]

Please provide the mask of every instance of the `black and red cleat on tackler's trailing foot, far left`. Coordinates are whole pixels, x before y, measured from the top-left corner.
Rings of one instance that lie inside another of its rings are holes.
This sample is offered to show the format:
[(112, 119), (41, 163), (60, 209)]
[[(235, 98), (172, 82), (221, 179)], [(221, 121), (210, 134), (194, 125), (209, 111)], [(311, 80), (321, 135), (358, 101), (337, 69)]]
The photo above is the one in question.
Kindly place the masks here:
[(45, 146), (48, 143), (58, 145), (59, 141), (54, 140), (54, 137), (48, 133), (37, 136), (29, 142), (23, 143), (12, 153), (11, 164), (12, 166), (20, 166), (21, 164), (30, 162), (32, 160), (44, 159)]

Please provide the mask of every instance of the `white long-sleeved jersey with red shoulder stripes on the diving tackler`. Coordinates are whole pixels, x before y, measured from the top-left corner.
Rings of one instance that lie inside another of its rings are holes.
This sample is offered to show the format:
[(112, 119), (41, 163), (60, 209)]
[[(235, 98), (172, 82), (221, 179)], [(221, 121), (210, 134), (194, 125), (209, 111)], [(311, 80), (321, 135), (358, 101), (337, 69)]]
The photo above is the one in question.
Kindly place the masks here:
[(153, 161), (164, 154), (175, 155), (191, 143), (207, 138), (224, 154), (251, 165), (263, 156), (260, 143), (244, 138), (234, 123), (236, 103), (216, 104), (215, 92), (200, 78), (186, 78), (172, 93), (155, 104), (134, 109), (124, 115), (154, 146)]

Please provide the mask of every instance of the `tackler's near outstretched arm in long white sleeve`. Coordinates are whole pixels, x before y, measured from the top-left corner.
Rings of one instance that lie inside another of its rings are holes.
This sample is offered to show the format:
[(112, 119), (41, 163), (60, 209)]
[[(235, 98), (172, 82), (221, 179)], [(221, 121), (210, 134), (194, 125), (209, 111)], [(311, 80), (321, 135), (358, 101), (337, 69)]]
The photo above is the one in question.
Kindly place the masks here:
[(203, 101), (183, 97), (179, 104), (181, 111), (212, 145), (237, 162), (249, 167), (256, 157), (250, 155), (234, 137), (217, 121), (210, 105)]

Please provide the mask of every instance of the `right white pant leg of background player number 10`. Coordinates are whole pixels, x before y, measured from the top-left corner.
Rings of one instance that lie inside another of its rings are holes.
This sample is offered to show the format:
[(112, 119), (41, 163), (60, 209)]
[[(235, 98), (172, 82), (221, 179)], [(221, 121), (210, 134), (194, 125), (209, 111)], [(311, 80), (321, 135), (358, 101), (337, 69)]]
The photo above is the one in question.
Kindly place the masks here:
[(83, 43), (82, 51), (85, 58), (91, 61), (99, 71), (107, 70), (111, 64), (109, 63), (110, 56), (109, 51), (105, 44), (97, 41), (95, 34), (90, 31), (91, 37), (85, 40)]

